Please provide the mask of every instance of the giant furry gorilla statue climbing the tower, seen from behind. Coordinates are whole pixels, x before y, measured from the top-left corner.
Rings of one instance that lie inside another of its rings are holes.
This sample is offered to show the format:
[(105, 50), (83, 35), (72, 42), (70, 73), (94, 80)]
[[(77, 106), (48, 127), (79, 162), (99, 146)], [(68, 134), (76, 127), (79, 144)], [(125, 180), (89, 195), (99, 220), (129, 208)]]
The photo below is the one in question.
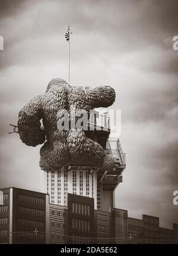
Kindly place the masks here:
[[(84, 130), (59, 130), (58, 113), (71, 105), (76, 110), (109, 107), (115, 101), (115, 90), (97, 86), (92, 90), (72, 88), (65, 80), (52, 79), (44, 94), (31, 99), (18, 114), (18, 132), (28, 146), (45, 144), (40, 149), (40, 168), (58, 170), (67, 163), (85, 163), (103, 170), (113, 170), (119, 162), (106, 155), (97, 142), (87, 138)], [(43, 129), (40, 123), (43, 121)]]

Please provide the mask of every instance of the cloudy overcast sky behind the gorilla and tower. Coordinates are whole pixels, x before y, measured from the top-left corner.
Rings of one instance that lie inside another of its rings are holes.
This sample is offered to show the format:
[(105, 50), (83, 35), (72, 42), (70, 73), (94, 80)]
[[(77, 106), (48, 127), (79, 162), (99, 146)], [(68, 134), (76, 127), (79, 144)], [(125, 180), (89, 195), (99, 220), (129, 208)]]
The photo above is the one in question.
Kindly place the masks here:
[(116, 207), (129, 217), (160, 217), (163, 227), (178, 223), (172, 202), (178, 190), (177, 13), (173, 0), (1, 0), (0, 188), (40, 189), (40, 146), (7, 133), (53, 77), (67, 80), (70, 24), (72, 82), (112, 86), (113, 107), (122, 110), (126, 170)]

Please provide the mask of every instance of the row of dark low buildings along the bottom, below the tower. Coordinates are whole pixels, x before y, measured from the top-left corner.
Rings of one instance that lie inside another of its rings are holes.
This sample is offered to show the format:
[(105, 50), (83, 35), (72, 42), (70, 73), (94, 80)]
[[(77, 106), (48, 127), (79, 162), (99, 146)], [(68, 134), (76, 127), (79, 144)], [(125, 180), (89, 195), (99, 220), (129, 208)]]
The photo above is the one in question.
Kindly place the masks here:
[[(49, 195), (19, 188), (0, 189), (0, 244), (178, 243), (178, 223), (160, 227), (159, 218), (128, 216), (110, 207), (94, 210), (94, 199), (68, 194), (68, 207), (50, 204)], [(2, 203), (2, 202), (1, 202)]]

